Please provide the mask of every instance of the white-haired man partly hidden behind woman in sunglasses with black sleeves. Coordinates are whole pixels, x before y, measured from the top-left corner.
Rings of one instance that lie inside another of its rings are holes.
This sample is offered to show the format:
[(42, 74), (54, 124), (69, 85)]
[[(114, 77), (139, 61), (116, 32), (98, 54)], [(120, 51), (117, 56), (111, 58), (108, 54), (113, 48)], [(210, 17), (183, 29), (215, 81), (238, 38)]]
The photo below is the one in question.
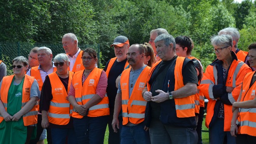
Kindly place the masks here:
[[(39, 84), (39, 90), (41, 91), (46, 76), (56, 71), (56, 67), (54, 66), (52, 61), (53, 52), (48, 47), (39, 47), (39, 49), (37, 50), (37, 59), (39, 61), (39, 66), (32, 67), (28, 71), (27, 75), (35, 77)], [(37, 141), (39, 141), (40, 135), (43, 131), (41, 123), (44, 123), (44, 121), (42, 121), (42, 115), (40, 113), (38, 114), (37, 119), (37, 137), (35, 140), (30, 141), (31, 144), (35, 144)], [(52, 143), (50, 128), (47, 128), (47, 142), (48, 144)]]

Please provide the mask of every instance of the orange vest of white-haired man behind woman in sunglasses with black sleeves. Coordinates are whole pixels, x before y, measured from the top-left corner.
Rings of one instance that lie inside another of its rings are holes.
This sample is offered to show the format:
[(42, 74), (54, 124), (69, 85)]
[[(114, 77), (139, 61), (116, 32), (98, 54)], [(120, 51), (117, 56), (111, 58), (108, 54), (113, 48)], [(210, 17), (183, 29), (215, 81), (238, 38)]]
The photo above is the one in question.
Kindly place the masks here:
[[(33, 76), (35, 78), (35, 80), (37, 80), (37, 83), (39, 85), (39, 90), (41, 92), (44, 82), (41, 78), (40, 70), (38, 69), (38, 67), (39, 66), (35, 66), (35, 67), (32, 67), (30, 69), (30, 76)], [(57, 71), (56, 67), (53, 68), (53, 72), (55, 72), (55, 71)], [(39, 101), (40, 101), (40, 99), (37, 102), (37, 109), (38, 110), (39, 110)]]

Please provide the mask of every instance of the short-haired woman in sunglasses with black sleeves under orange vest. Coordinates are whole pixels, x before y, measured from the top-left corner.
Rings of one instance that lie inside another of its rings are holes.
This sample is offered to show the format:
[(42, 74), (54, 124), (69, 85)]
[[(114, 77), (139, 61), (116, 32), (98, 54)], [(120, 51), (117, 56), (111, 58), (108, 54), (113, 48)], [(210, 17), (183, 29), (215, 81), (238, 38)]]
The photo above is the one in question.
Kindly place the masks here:
[[(57, 71), (46, 76), (42, 87), (40, 112), (42, 128), (50, 126), (53, 144), (76, 144), (73, 121), (70, 117), (70, 103), (67, 100), (70, 83), (74, 73), (68, 71), (70, 61), (66, 54), (54, 57)], [(71, 111), (70, 111), (71, 110)]]

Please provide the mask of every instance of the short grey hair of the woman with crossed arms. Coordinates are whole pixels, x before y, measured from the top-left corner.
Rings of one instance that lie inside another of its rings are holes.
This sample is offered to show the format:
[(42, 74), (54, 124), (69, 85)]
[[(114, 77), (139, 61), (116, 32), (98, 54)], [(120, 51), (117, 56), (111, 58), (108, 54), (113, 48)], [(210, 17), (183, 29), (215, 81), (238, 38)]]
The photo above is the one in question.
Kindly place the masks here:
[(232, 47), (232, 36), (230, 35), (215, 35), (211, 37), (212, 45), (225, 45)]

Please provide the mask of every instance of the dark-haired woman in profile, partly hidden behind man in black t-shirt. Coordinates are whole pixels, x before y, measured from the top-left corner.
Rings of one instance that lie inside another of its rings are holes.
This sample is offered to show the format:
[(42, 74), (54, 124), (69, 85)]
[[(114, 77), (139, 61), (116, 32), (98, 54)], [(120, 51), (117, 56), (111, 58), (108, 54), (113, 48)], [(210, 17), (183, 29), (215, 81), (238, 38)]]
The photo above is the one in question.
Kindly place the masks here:
[[(198, 85), (203, 78), (203, 66), (201, 62), (196, 59), (195, 57), (191, 56), (191, 51), (194, 48), (194, 43), (188, 36), (177, 36), (175, 38), (176, 43), (176, 54), (179, 57), (187, 57), (193, 61), (197, 78), (198, 78)], [(201, 91), (198, 89), (198, 93), (195, 94), (195, 115), (197, 121), (196, 132), (198, 134), (198, 144), (202, 144), (202, 122), (203, 122), (203, 114), (204, 114), (204, 96)]]

